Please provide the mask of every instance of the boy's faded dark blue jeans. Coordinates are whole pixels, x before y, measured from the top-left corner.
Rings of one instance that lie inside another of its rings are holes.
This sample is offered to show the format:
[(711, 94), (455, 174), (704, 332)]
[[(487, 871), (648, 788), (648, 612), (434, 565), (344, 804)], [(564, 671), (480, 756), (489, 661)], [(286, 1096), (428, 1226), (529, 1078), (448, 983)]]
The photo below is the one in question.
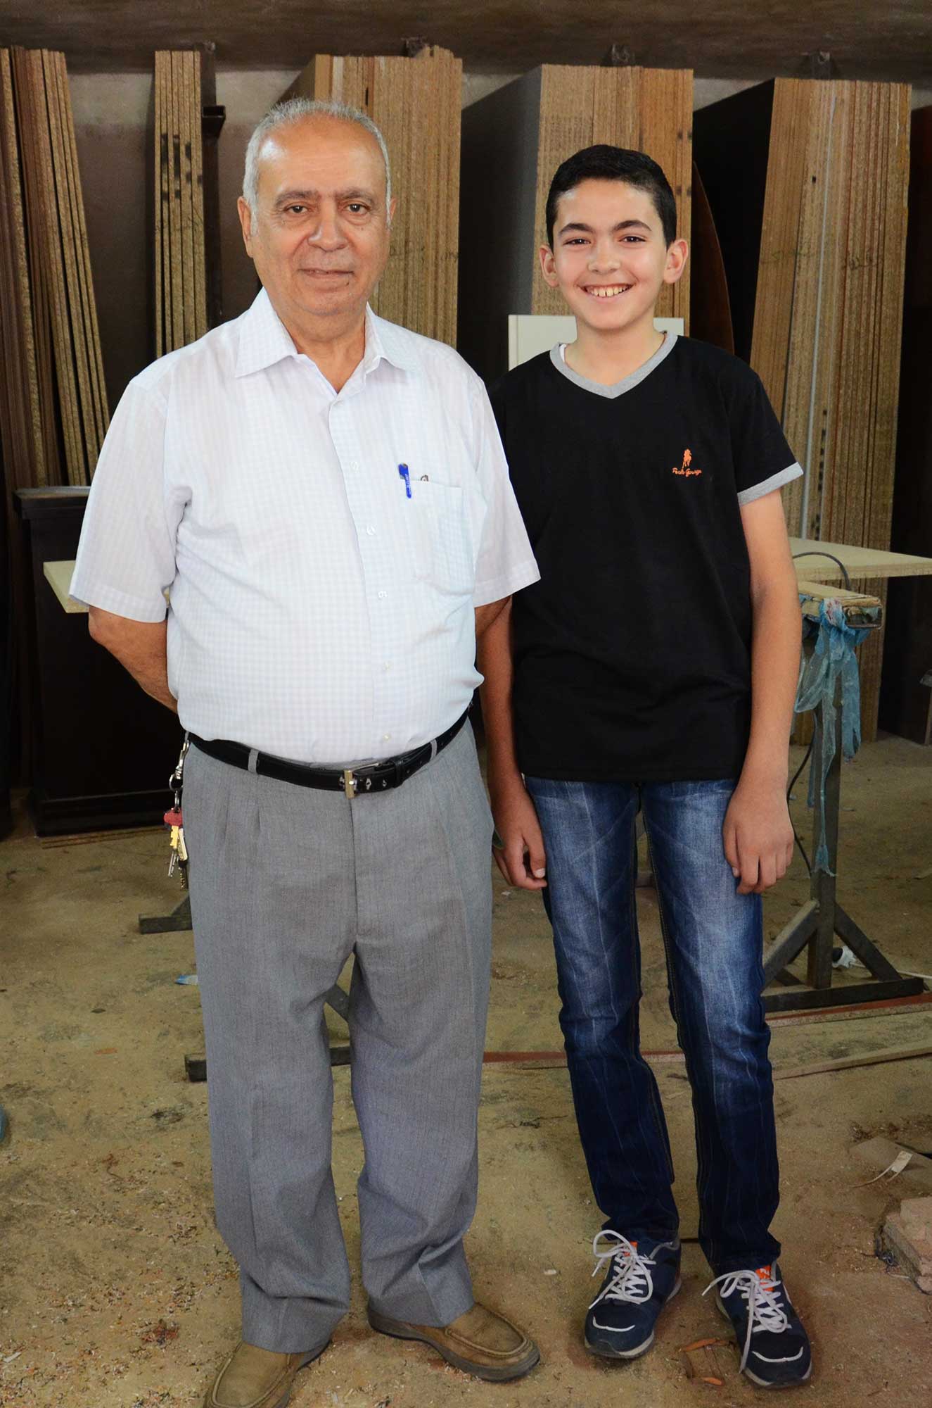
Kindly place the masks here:
[(670, 1140), (639, 1049), (635, 817), (660, 904), (670, 1011), (693, 1087), (698, 1236), (715, 1273), (767, 1266), (779, 1202), (760, 895), (736, 894), (722, 822), (733, 781), (527, 779), (546, 846), (560, 1026), (596, 1202), (632, 1239), (679, 1229)]

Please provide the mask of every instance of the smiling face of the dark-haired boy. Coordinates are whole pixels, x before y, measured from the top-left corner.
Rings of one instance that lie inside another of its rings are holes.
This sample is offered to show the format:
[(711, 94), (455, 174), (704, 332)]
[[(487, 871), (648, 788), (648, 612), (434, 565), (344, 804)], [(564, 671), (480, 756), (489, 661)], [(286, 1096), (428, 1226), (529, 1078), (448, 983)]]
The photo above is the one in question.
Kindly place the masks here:
[(650, 194), (624, 180), (588, 179), (560, 196), (553, 248), (541, 249), (549, 286), (603, 334), (652, 332), (660, 289), (684, 263), (686, 241), (667, 248)]

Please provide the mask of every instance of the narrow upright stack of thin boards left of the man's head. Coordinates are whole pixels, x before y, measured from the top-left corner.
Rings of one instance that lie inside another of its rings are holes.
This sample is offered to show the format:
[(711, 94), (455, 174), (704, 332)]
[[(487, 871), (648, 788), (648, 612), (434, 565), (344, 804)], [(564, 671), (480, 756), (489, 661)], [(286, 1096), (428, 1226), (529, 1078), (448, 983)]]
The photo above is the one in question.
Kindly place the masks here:
[(207, 332), (201, 55), (155, 55), (155, 355)]

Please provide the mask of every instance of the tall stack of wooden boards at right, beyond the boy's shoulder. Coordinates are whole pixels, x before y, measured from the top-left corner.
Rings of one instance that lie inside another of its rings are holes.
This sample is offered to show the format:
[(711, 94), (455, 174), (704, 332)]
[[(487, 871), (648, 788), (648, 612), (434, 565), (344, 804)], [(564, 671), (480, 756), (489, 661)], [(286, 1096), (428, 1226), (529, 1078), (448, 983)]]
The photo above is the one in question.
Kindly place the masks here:
[[(888, 548), (909, 89), (777, 79), (698, 111), (694, 142), (735, 349), (805, 470), (784, 490), (790, 534)], [(886, 600), (880, 582), (852, 586)], [(876, 736), (881, 652), (877, 632), (860, 658), (864, 739)]]

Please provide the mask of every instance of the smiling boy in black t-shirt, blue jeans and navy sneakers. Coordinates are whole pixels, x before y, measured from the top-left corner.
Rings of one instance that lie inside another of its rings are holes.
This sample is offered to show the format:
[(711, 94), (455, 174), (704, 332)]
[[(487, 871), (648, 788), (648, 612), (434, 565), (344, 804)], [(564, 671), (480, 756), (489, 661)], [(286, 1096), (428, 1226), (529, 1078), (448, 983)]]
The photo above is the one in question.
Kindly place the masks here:
[(680, 1286), (670, 1146), (638, 1038), (641, 805), (693, 1086), (700, 1242), (742, 1370), (795, 1384), (811, 1357), (769, 1232), (760, 895), (793, 853), (800, 608), (780, 487), (801, 469), (743, 362), (655, 331), (687, 258), (656, 162), (577, 152), (553, 177), (546, 225), (543, 277), (577, 337), (491, 393), (541, 582), (484, 635), (480, 669), (498, 865), (543, 890), (607, 1218), (586, 1345), (643, 1353)]

